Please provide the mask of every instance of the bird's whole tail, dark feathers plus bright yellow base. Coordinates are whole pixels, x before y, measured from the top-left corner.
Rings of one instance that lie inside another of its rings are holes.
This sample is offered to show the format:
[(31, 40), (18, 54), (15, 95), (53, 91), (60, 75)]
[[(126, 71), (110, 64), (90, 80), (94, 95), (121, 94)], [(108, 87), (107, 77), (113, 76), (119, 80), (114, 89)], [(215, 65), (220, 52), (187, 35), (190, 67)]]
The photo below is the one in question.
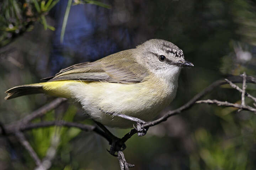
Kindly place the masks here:
[(31, 95), (31, 94), (39, 94), (45, 93), (51, 96), (70, 98), (71, 93), (69, 90), (70, 85), (81, 83), (80, 81), (48, 81), (44, 83), (36, 83), (36, 84), (27, 84), (12, 87), (7, 90), (7, 96), (5, 100), (9, 100), (11, 98)]

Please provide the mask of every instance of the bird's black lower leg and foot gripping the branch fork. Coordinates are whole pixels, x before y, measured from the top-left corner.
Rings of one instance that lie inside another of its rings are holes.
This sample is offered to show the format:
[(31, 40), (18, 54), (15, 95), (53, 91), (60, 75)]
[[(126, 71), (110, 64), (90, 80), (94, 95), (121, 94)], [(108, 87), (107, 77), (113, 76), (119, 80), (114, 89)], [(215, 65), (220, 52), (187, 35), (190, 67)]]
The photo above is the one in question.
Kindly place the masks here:
[(104, 132), (105, 134), (107, 134), (110, 138), (110, 150), (108, 151), (111, 155), (117, 157), (117, 154), (115, 154), (118, 151), (123, 151), (124, 149), (126, 149), (126, 145), (124, 144), (124, 142), (122, 142), (120, 140), (120, 138), (114, 136), (104, 125), (102, 125), (101, 123), (94, 121)]

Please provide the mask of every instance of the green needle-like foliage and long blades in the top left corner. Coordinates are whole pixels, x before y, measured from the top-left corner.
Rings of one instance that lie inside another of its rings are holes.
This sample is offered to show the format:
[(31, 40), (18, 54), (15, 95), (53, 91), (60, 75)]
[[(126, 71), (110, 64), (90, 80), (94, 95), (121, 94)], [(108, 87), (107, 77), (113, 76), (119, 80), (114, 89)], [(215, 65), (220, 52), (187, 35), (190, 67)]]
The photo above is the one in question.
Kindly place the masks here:
[[(61, 41), (72, 1), (69, 0), (69, 5), (66, 7)], [(47, 24), (45, 16), (58, 2), (59, 0), (3, 0), (0, 6), (0, 47), (11, 42), (16, 36), (31, 31), (36, 21), (40, 21), (45, 30), (54, 31), (55, 28)], [(85, 3), (111, 8), (110, 5), (94, 0), (74, 0), (73, 5)]]

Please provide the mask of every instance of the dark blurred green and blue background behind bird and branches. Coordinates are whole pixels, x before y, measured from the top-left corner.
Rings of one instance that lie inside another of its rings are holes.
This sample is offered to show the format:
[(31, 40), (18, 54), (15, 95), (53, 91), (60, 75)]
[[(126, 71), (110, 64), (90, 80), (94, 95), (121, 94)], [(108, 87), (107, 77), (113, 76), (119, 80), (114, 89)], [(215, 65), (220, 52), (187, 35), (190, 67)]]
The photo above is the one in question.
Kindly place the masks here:
[[(183, 69), (174, 102), (180, 107), (213, 81), (256, 74), (256, 2), (253, 0), (1, 0), (0, 122), (9, 124), (52, 101), (30, 95), (5, 101), (7, 89), (37, 83), (60, 69), (95, 61), (158, 38), (180, 47), (195, 67)], [(256, 96), (255, 85), (248, 92)], [(223, 85), (205, 99), (241, 102)], [(246, 103), (252, 104), (246, 98)], [(93, 124), (78, 104), (66, 102), (34, 120)], [(122, 137), (129, 129), (110, 129)], [(40, 128), (25, 133), (40, 158), (55, 151), (51, 170), (119, 169), (102, 137), (76, 128)], [(256, 116), (234, 108), (195, 105), (143, 137), (126, 143), (132, 170), (256, 169)], [(0, 169), (33, 169), (35, 163), (14, 136), (0, 137)]]

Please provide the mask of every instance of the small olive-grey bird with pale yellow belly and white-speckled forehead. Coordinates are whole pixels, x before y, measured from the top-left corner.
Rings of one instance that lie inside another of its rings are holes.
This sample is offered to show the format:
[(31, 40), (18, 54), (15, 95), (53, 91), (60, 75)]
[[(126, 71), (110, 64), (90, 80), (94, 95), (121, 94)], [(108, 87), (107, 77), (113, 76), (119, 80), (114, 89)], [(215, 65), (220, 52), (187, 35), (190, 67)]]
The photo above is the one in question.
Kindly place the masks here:
[(153, 120), (174, 100), (181, 68), (192, 66), (176, 45), (151, 39), (135, 49), (64, 68), (47, 82), (13, 87), (5, 99), (39, 93), (71, 98), (91, 119), (131, 128), (134, 121), (126, 116)]

